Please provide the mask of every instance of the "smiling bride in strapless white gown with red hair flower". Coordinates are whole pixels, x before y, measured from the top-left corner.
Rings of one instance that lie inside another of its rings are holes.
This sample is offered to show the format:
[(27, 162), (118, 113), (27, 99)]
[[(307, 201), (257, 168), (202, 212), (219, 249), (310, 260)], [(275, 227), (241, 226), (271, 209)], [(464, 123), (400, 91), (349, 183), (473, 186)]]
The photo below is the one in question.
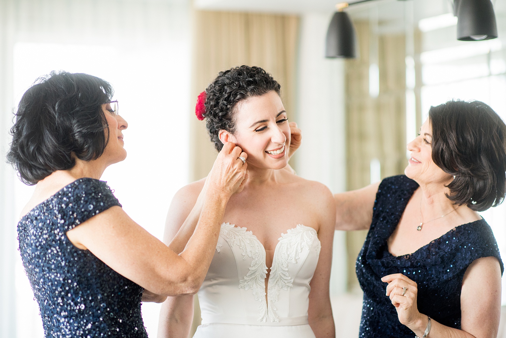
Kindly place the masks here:
[[(198, 291), (202, 324), (194, 337), (335, 335), (329, 299), (335, 202), (327, 187), (287, 166), (290, 126), (279, 93), (263, 69), (241, 66), (221, 72), (199, 96), (197, 116), (206, 119), (211, 140), (217, 149), (234, 142), (246, 152), (248, 178), (227, 204)], [(184, 220), (198, 212), (204, 184), (191, 183), (175, 195), (167, 244), (193, 233), (194, 224)], [(171, 248), (183, 251), (175, 242)], [(192, 295), (167, 298), (158, 337), (186, 338), (192, 318)]]

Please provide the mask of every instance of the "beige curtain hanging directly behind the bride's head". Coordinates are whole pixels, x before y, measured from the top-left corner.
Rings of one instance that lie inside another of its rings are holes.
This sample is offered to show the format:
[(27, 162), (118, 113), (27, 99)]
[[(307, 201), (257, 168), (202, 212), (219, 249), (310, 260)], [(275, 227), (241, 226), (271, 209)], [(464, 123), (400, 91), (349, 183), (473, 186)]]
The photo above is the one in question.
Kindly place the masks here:
[[(194, 12), (192, 99), (218, 72), (235, 66), (260, 66), (280, 83), (288, 118), (294, 117), (299, 18), (287, 15)], [(193, 112), (192, 112), (193, 113)], [(205, 121), (191, 119), (193, 180), (209, 173), (217, 155)]]

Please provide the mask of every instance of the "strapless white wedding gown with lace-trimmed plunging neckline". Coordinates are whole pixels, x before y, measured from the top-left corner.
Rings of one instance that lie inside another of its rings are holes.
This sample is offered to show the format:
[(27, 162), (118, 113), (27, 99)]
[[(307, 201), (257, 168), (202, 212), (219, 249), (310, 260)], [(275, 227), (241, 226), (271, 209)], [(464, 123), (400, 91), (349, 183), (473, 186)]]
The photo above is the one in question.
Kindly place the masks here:
[(309, 282), (320, 248), (313, 228), (298, 224), (281, 234), (266, 300), (264, 246), (246, 228), (223, 223), (198, 291), (202, 325), (194, 338), (314, 338), (308, 324)]

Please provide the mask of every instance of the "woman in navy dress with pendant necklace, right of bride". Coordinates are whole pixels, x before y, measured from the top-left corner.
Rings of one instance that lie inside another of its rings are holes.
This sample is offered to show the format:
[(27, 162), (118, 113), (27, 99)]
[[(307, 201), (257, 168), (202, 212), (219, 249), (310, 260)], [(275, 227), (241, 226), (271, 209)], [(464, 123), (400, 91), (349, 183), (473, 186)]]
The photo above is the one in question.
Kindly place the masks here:
[(489, 106), (449, 101), (407, 145), (405, 176), (334, 195), (336, 229), (369, 230), (360, 337), (497, 336), (503, 264), (477, 212), (504, 199), (505, 142)]

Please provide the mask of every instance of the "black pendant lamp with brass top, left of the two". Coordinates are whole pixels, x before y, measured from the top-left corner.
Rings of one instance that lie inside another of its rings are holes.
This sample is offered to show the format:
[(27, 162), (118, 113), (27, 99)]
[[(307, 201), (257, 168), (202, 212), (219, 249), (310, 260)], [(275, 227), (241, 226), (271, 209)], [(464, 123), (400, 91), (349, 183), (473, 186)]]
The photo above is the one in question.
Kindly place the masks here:
[[(338, 5), (339, 6), (339, 5)], [(345, 7), (347, 7), (346, 4)], [(355, 28), (343, 8), (338, 7), (327, 30), (326, 58), (355, 58)]]

